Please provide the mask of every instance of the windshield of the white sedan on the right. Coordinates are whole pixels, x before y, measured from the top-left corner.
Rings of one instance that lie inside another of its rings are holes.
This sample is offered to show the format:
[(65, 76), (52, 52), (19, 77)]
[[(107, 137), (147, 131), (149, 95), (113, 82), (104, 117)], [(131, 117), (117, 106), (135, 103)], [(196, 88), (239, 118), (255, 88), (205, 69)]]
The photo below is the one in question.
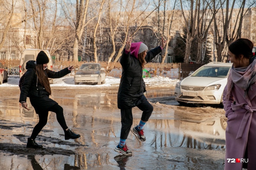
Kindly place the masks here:
[(191, 76), (193, 77), (227, 77), (229, 69), (231, 67), (221, 67), (221, 66), (203, 66), (196, 70)]

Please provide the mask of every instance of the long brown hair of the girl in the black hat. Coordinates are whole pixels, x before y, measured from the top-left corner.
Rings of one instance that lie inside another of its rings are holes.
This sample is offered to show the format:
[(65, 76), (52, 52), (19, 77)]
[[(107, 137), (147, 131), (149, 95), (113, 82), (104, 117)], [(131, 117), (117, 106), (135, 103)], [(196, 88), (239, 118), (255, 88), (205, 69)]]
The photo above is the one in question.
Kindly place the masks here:
[[(45, 90), (51, 95), (50, 82), (49, 82), (48, 77), (46, 77), (44, 71), (45, 70), (44, 70), (43, 64), (37, 64), (36, 65), (37, 77), (38, 77), (40, 83), (42, 84), (42, 86), (45, 88)], [(46, 72), (47, 72), (47, 69), (46, 69)]]

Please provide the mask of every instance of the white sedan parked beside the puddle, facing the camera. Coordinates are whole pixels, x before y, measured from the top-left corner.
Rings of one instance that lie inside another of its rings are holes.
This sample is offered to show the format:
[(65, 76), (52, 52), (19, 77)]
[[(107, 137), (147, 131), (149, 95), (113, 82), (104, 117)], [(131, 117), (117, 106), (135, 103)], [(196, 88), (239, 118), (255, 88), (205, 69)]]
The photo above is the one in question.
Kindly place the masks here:
[(232, 63), (210, 62), (190, 73), (175, 87), (180, 104), (205, 103), (222, 105), (222, 95)]

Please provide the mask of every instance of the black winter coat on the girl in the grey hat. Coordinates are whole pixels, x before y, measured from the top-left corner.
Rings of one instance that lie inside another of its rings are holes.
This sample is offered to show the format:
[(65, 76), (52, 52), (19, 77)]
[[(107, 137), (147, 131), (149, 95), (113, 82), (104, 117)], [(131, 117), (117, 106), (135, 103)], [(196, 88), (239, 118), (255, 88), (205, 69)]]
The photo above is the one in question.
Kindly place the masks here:
[[(162, 51), (161, 47), (158, 46), (147, 52), (145, 60), (148, 63), (157, 54)], [(123, 54), (120, 59), (122, 65), (122, 76), (117, 95), (117, 107), (119, 109), (129, 109), (138, 106), (146, 97), (144, 92), (146, 91), (145, 83), (142, 78), (143, 69), (139, 60), (130, 54)]]

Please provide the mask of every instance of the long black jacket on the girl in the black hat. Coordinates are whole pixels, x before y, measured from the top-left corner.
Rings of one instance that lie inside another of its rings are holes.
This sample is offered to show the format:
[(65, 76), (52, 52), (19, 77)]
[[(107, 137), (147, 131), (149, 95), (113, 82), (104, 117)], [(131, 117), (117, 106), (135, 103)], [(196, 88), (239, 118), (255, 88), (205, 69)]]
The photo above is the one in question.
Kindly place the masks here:
[[(50, 94), (37, 79), (35, 61), (28, 61), (26, 63), (26, 69), (27, 72), (21, 87), (19, 102), (26, 102), (27, 94), (29, 94), (30, 103), (35, 108), (37, 114), (40, 113), (40, 111), (47, 111), (50, 107), (58, 104), (56, 101), (49, 98)], [(70, 71), (68, 68), (64, 68), (59, 72), (54, 72), (48, 69), (45, 70), (45, 76), (52, 79), (61, 78), (69, 73)]]

